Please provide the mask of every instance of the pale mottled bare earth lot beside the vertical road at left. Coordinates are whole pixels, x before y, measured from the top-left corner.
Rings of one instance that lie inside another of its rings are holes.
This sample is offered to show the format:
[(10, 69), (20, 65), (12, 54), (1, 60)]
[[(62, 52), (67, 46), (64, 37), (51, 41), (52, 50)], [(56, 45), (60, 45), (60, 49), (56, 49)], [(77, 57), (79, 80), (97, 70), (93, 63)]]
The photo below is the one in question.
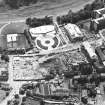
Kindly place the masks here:
[(43, 78), (47, 74), (44, 68), (39, 68), (38, 62), (33, 56), (16, 56), (13, 61), (14, 80), (35, 80)]

